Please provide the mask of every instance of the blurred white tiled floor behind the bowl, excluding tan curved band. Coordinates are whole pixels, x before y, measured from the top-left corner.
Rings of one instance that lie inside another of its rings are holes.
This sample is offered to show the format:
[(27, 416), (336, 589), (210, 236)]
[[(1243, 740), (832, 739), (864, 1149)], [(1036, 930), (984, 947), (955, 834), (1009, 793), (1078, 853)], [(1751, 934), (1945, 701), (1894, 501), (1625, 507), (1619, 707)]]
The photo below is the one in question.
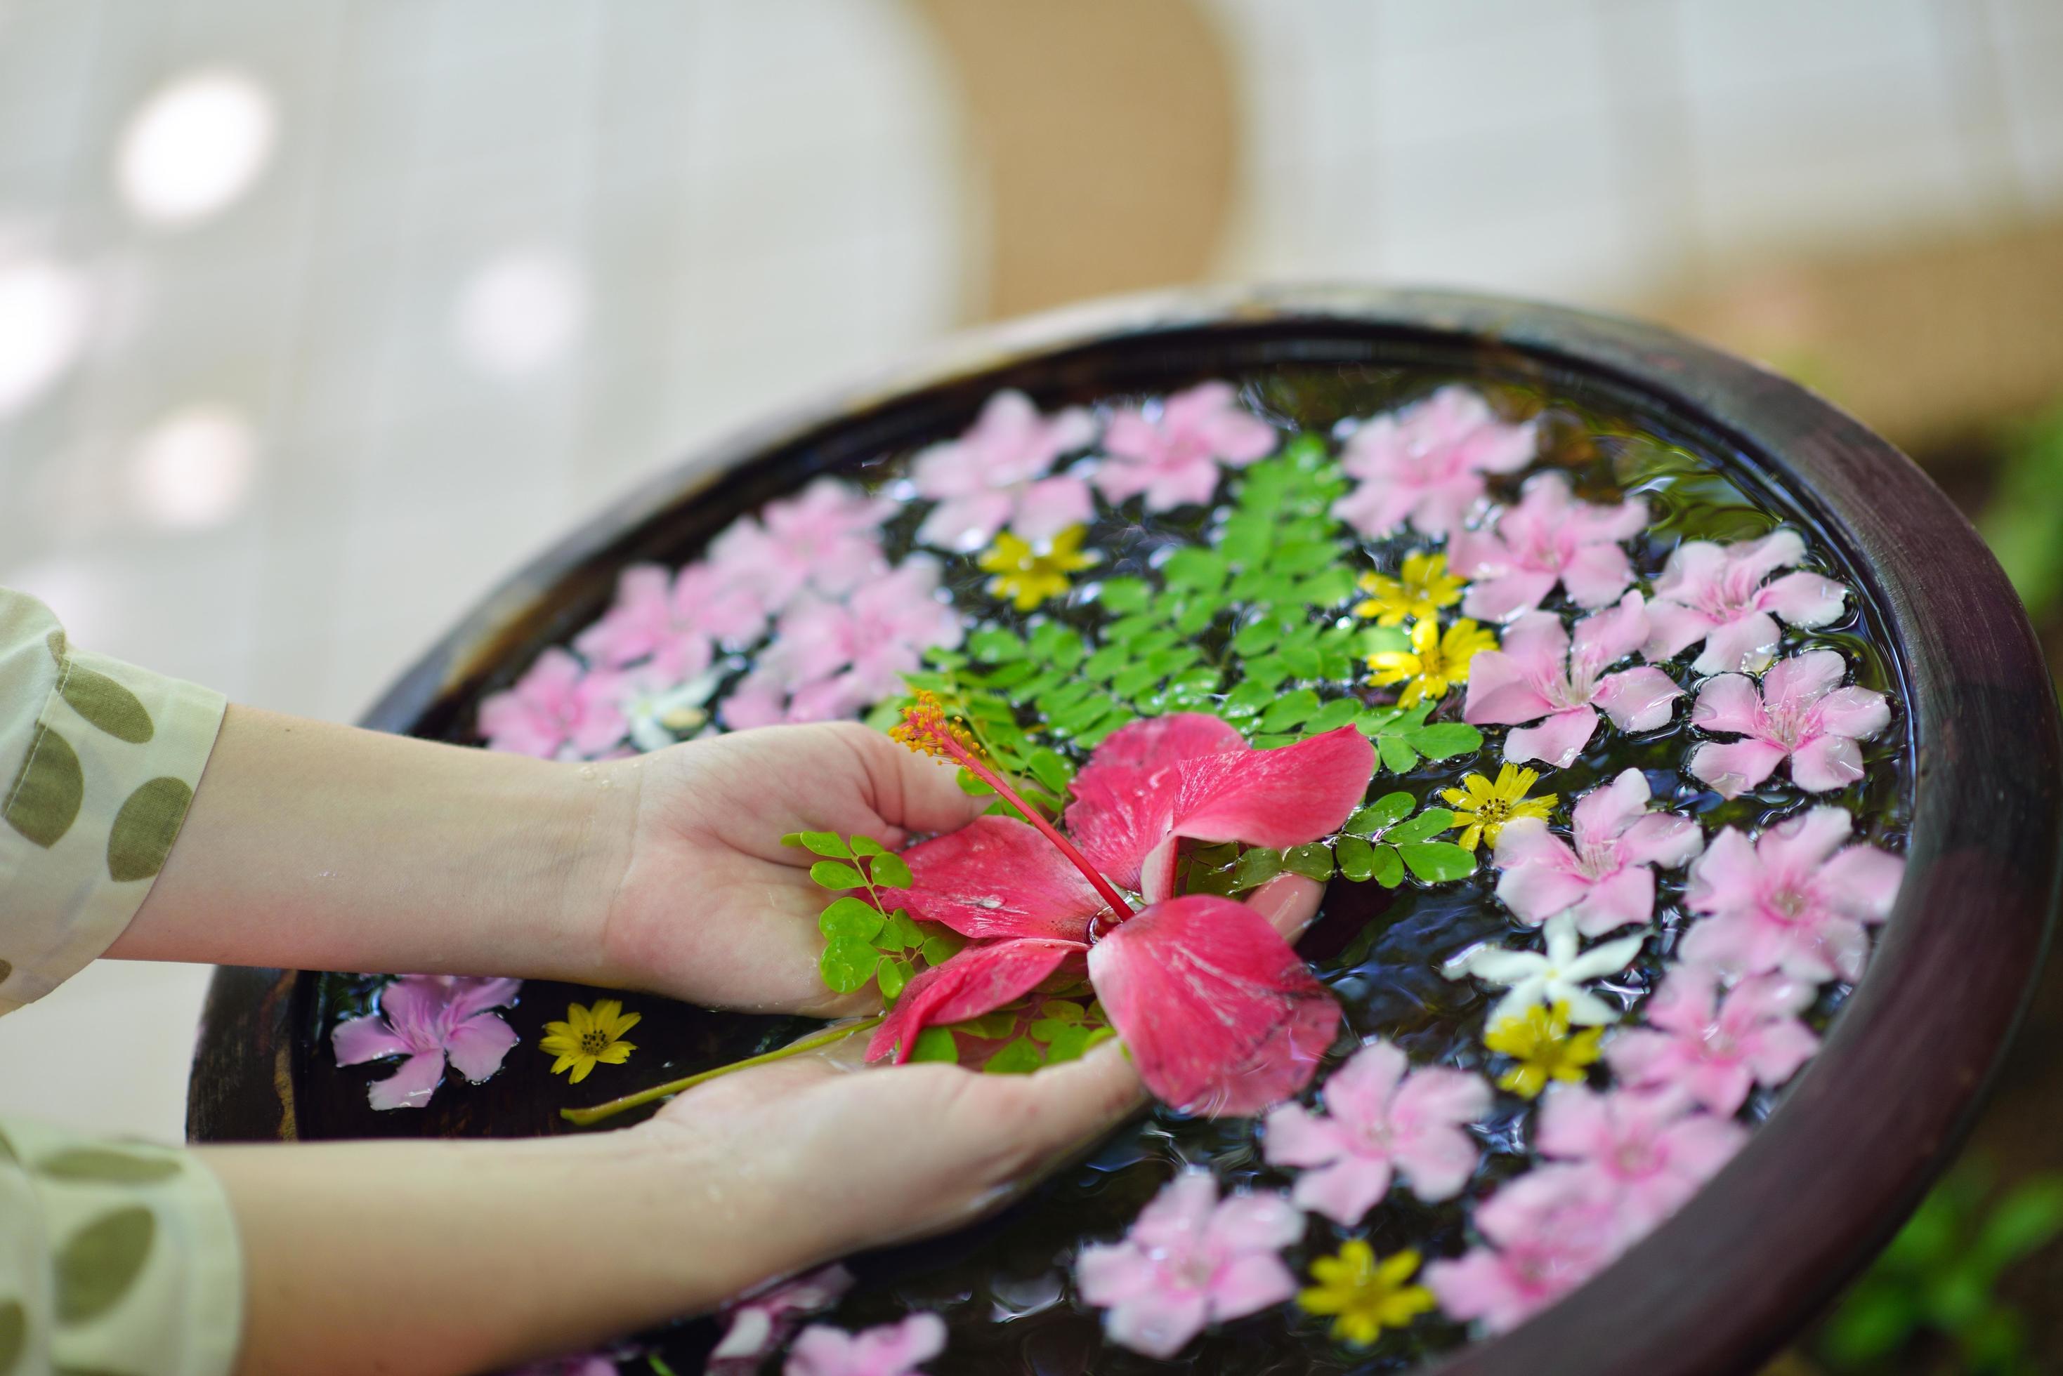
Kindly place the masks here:
[[(1244, 99), (1221, 276), (1626, 305), (2063, 206), (2057, 0), (1201, 2)], [(124, 122), (225, 64), (276, 101), (272, 163), (138, 223)], [(93, 293), (85, 355), (0, 415), (0, 582), (351, 718), (640, 474), (972, 314), (970, 149), (897, 0), (0, 0), (0, 270)], [(454, 336), (510, 250), (571, 264), (586, 320), (518, 380)], [(130, 454), (192, 402), (248, 417), (256, 477), (165, 530)], [(175, 1137), (202, 980), (109, 963), (8, 1017), (0, 1110)]]

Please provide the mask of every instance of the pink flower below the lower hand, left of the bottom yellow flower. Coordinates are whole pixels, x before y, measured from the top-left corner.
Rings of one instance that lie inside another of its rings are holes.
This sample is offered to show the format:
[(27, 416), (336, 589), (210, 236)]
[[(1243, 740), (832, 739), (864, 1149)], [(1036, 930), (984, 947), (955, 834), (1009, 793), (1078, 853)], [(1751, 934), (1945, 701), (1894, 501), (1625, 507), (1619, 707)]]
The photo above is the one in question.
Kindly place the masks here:
[(1172, 1357), (1209, 1322), (1244, 1318), (1296, 1293), (1281, 1250), (1304, 1215), (1281, 1194), (1217, 1199), (1207, 1170), (1184, 1170), (1139, 1211), (1124, 1242), (1081, 1248), (1075, 1281), (1112, 1343)]

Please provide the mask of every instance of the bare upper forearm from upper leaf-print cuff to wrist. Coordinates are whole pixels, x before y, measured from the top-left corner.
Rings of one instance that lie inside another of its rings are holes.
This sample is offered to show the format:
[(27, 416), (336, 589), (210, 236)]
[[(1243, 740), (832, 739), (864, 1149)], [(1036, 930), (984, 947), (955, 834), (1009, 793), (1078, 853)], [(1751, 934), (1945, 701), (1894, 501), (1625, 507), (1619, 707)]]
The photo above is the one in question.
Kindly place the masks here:
[(635, 774), (231, 708), (109, 955), (600, 978)]

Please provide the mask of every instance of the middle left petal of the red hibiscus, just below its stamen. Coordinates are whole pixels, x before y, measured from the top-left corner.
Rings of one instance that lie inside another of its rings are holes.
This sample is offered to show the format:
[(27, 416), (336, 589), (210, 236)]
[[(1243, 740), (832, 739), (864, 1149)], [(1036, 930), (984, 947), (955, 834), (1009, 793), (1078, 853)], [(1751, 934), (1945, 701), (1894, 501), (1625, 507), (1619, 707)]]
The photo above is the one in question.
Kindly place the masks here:
[(976, 817), (904, 852), (908, 889), (881, 902), (961, 937), (1087, 941), (1106, 904), (1060, 848), (1015, 817)]

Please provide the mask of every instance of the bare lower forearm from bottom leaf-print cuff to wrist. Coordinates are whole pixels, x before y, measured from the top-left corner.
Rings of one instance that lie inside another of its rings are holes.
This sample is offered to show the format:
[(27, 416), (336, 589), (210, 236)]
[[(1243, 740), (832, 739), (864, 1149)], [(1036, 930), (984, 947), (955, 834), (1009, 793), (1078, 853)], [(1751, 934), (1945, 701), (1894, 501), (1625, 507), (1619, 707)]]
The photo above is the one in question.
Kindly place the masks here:
[(765, 1190), (640, 1131), (210, 1147), (243, 1244), (237, 1370), (446, 1376), (580, 1351), (811, 1260)]

